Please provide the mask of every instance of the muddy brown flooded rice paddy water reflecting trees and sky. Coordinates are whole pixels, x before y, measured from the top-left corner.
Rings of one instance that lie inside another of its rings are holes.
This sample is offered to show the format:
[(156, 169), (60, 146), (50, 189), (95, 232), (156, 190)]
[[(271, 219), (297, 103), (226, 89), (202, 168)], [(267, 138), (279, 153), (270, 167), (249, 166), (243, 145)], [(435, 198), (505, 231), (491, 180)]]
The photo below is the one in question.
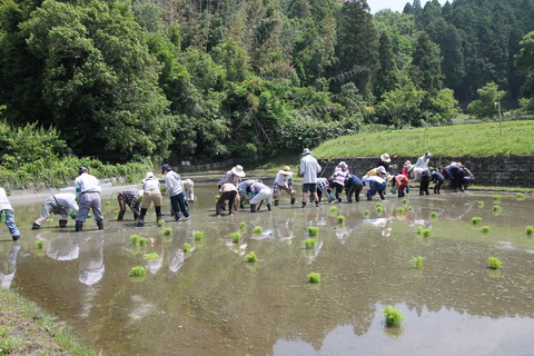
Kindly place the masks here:
[[(112, 221), (117, 190), (103, 195), (103, 231), (91, 219), (83, 233), (71, 220), (67, 229), (55, 220), (32, 231), (43, 199), (14, 200), (23, 237), (14, 244), (1, 230), (2, 284), (107, 355), (532, 355), (534, 237), (525, 227), (534, 225), (534, 199), (503, 196), (494, 211), (490, 195), (409, 195), (404, 205), (388, 195), (380, 215), (378, 201), (330, 212), (285, 197), (271, 212), (216, 217), (212, 186), (196, 187), (190, 221), (166, 217), (170, 236), (154, 215), (144, 228), (131, 212)], [(257, 226), (261, 234), (251, 231)], [(319, 227), (310, 250), (308, 226)], [(205, 238), (195, 240), (195, 231)], [(229, 238), (235, 231), (240, 244)], [(132, 246), (132, 234), (149, 244)], [(184, 253), (185, 243), (192, 251)], [(159, 258), (147, 261), (154, 251)], [(244, 263), (250, 251), (258, 263)], [(421, 270), (415, 256), (425, 258)], [(502, 268), (490, 270), (488, 257)], [(149, 273), (128, 277), (134, 266)], [(313, 271), (320, 284), (307, 283)], [(385, 328), (386, 305), (402, 310), (402, 327)]]

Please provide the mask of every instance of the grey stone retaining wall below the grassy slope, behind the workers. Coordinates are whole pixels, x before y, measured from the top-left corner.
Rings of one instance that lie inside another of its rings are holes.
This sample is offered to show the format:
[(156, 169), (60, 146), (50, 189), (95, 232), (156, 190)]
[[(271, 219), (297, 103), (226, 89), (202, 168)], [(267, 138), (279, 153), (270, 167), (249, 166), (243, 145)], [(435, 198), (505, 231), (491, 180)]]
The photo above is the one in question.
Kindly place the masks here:
[[(393, 172), (398, 172), (405, 160), (415, 164), (417, 157), (392, 158)], [(350, 171), (358, 177), (378, 164), (378, 158), (352, 157), (335, 160), (319, 160), (323, 167), (322, 176), (329, 177), (339, 161), (346, 161)], [(452, 161), (462, 162), (475, 175), (475, 184), (495, 187), (528, 187), (534, 188), (534, 156), (512, 157), (436, 157), (431, 159), (431, 167), (447, 166)]]

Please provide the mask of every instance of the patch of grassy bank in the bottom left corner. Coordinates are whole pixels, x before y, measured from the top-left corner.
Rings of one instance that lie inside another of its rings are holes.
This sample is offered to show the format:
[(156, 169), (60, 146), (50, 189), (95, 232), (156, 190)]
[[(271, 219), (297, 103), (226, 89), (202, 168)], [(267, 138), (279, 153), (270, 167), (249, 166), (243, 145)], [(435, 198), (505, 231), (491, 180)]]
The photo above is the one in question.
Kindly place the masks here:
[(0, 289), (0, 355), (98, 355), (37, 305)]

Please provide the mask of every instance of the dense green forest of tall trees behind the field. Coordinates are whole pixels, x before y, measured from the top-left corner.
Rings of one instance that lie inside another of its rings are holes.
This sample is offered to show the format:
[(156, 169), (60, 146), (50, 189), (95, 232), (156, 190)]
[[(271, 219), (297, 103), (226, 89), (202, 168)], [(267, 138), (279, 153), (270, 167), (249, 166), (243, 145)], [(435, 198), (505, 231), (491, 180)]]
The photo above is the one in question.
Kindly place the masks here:
[(533, 113), (532, 19), (534, 0), (1, 0), (0, 119), (122, 164), (488, 120), (497, 97)]

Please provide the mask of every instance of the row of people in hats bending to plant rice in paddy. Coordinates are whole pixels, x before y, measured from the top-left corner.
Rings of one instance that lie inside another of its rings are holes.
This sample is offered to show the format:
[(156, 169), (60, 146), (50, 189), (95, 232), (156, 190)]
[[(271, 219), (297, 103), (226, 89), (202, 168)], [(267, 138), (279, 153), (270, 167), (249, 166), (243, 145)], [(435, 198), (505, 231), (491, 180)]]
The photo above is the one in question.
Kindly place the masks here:
[[(362, 178), (352, 174), (348, 165), (339, 162), (329, 178), (318, 177), (322, 170), (317, 159), (312, 156), (312, 151), (305, 148), (301, 152), (300, 167), (298, 175), (303, 177), (303, 200), (301, 208), (307, 202), (315, 202), (319, 206), (323, 195), (328, 202), (343, 202), (343, 192), (345, 191), (347, 202), (360, 200), (359, 195), (366, 187), (367, 200), (373, 200), (375, 195), (385, 199), (387, 185), (390, 184), (390, 190), (404, 197), (409, 192), (409, 182), (419, 182), (419, 195), (429, 195), (429, 184), (434, 182), (434, 194), (439, 194), (445, 180), (451, 181), (454, 190), (464, 190), (473, 182), (474, 176), (461, 162), (452, 162), (446, 167), (431, 169), (428, 167), (432, 155), (426, 152), (421, 156), (415, 165), (409, 160), (405, 161), (398, 174), (392, 171), (392, 159), (388, 154), (379, 157), (376, 168), (368, 170)], [(75, 180), (75, 194), (59, 192), (48, 197), (42, 204), (40, 217), (33, 221), (32, 229), (39, 229), (41, 225), (51, 215), (60, 216), (59, 227), (66, 227), (68, 218), (76, 220), (76, 231), (83, 229), (83, 222), (91, 217), (89, 210), (92, 209), (95, 221), (99, 229), (103, 229), (103, 216), (101, 211), (100, 181), (86, 167), (81, 167)], [(171, 215), (176, 221), (189, 220), (188, 204), (195, 200), (194, 182), (190, 179), (182, 180), (170, 165), (161, 166), (161, 174), (165, 176), (166, 189), (161, 189), (159, 179), (154, 172), (147, 172), (142, 179), (142, 188), (128, 188), (118, 194), (117, 200), (119, 211), (117, 220), (122, 220), (127, 207), (134, 212), (134, 219), (138, 227), (145, 224), (145, 217), (148, 209), (154, 205), (156, 220), (161, 220), (162, 196), (170, 197)], [(246, 179), (243, 167), (237, 165), (228, 170), (217, 182), (219, 197), (216, 201), (216, 214), (220, 216), (226, 208), (228, 214), (235, 214), (238, 208), (244, 208), (248, 201), (250, 211), (259, 211), (265, 202), (268, 210), (271, 210), (271, 202), (279, 205), (281, 192), (285, 191), (290, 199), (290, 204), (296, 202), (296, 190), (293, 185), (293, 171), (289, 166), (280, 169), (274, 180), (273, 188), (265, 185), (260, 179)], [(6, 190), (0, 188), (0, 220), (6, 222), (13, 240), (20, 238), (20, 231), (14, 224), (13, 209), (7, 198)], [(182, 217), (184, 216), (184, 217)]]

